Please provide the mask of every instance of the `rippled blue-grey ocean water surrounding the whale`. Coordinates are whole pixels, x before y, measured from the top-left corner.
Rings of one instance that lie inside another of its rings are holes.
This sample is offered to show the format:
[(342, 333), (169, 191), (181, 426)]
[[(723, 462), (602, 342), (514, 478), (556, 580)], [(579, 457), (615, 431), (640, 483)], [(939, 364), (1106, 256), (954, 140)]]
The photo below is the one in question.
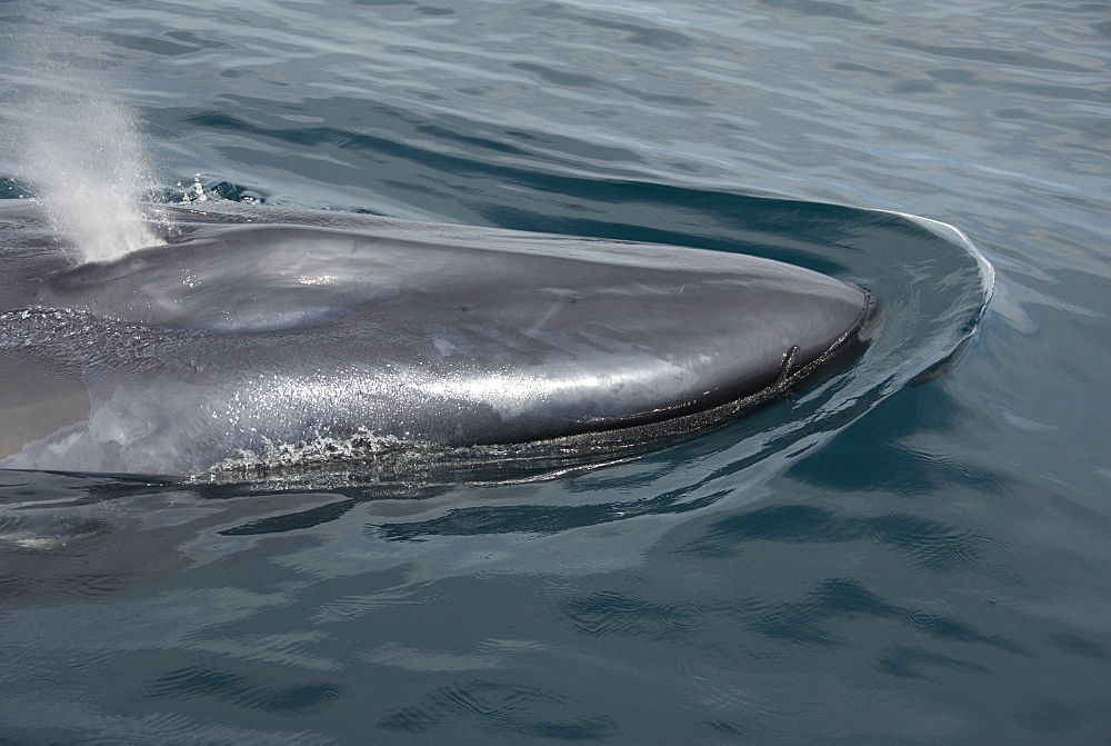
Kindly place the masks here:
[(1107, 2), (0, 3), (2, 199), (758, 253), (884, 310), (603, 464), (0, 471), (0, 742), (1111, 739), (1109, 62)]

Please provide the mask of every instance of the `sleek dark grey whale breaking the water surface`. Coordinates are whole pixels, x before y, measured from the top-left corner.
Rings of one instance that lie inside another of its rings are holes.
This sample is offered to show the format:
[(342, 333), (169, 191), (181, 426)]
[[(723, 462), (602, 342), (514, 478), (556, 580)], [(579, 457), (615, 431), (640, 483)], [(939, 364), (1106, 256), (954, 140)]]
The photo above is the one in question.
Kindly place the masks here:
[(164, 208), (158, 245), (81, 261), (0, 201), (0, 468), (617, 452), (843, 368), (878, 317), (753, 256), (266, 207)]

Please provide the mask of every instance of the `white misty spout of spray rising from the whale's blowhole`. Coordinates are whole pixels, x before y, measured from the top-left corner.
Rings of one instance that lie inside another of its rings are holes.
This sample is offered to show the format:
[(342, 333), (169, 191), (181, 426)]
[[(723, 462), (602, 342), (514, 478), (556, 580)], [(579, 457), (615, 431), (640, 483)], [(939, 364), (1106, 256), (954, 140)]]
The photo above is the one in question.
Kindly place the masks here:
[(19, 180), (33, 187), (76, 261), (161, 243), (170, 219), (143, 201), (157, 192), (143, 137), (131, 109), (103, 82), (110, 76), (82, 49), (91, 42), (24, 41), (34, 51), (19, 58), (16, 86), (4, 96), (14, 105), (4, 145)]

